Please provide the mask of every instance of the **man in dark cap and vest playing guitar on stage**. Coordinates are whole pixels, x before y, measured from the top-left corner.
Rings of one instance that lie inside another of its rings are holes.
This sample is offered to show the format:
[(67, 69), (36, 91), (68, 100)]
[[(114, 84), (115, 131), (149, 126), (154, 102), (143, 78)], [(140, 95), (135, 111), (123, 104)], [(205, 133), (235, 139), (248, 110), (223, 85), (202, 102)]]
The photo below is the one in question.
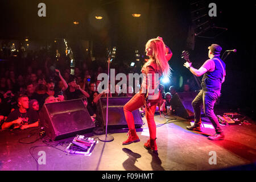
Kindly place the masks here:
[(197, 94), (196, 98), (192, 102), (194, 114), (195, 114), (195, 125), (187, 126), (188, 130), (193, 131), (201, 131), (201, 111), (200, 105), (204, 106), (204, 113), (212, 122), (216, 130), (216, 134), (213, 136), (209, 136), (210, 140), (223, 140), (224, 132), (221, 129), (220, 123), (218, 123), (218, 119), (213, 112), (214, 103), (217, 101), (218, 97), (220, 97), (221, 93), (221, 84), (225, 80), (225, 63), (220, 59), (220, 53), (222, 48), (217, 44), (212, 44), (208, 47), (209, 59), (205, 61), (205, 63), (201, 66), (201, 68), (196, 69), (192, 67), (192, 63), (184, 63), (184, 67), (188, 68), (193, 75), (199, 77), (203, 76), (201, 87), (199, 94)]

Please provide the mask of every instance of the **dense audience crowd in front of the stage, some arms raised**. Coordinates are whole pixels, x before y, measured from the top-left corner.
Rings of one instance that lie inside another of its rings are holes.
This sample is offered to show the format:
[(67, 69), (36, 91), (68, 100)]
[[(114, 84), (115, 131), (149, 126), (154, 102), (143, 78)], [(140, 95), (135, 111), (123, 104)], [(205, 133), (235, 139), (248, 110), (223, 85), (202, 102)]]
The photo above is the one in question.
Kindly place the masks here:
[[(18, 56), (10, 52), (6, 54), (5, 50), (1, 49), (0, 56), (5, 58), (0, 62), (2, 130), (15, 128), (23, 130), (39, 126), (39, 112), (44, 104), (79, 98), (84, 101), (92, 121), (96, 126), (100, 125), (96, 119), (97, 105), (101, 97), (106, 97), (108, 90), (98, 92), (97, 86), (101, 80), (97, 80), (97, 76), (100, 73), (108, 73), (104, 65), (93, 67), (92, 61), (80, 61), (76, 67), (71, 68), (70, 60), (61, 56), (56, 59), (55, 54), (48, 53), (47, 49), (26, 52), (26, 54), (19, 52)], [(134, 85), (120, 86), (118, 82), (115, 82), (115, 93), (110, 93), (109, 97), (134, 96)], [(125, 88), (122, 88), (123, 86)], [(118, 90), (121, 89), (126, 89), (127, 93), (119, 93)], [(160, 90), (163, 98), (160, 109), (162, 111), (171, 109), (171, 98), (177, 92), (176, 86), (164, 88), (164, 85), (160, 85)], [(180, 91), (190, 92), (189, 84), (184, 84)]]

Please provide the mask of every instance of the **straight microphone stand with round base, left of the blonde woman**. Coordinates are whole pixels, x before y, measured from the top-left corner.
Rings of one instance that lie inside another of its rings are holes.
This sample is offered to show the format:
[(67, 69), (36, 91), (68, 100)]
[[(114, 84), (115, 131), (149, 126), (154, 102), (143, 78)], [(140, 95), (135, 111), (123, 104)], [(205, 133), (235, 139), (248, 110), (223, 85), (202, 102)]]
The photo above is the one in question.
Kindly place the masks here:
[(106, 135), (101, 135), (98, 137), (99, 140), (102, 142), (111, 142), (114, 140), (114, 137), (108, 135), (108, 120), (109, 120), (109, 63), (110, 63), (110, 56), (108, 57), (108, 92), (107, 92), (107, 106), (106, 106)]

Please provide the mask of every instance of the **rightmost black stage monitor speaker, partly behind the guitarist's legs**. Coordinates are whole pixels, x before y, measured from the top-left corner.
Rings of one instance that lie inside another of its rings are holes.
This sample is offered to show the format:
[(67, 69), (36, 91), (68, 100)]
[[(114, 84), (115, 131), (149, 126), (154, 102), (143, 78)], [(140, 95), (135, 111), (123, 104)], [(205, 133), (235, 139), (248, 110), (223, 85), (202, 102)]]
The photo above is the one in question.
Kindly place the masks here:
[[(198, 92), (181, 92), (175, 93), (171, 98), (172, 110), (174, 114), (181, 118), (193, 118), (194, 111), (192, 101), (197, 96)], [(204, 114), (203, 106), (201, 107), (201, 114)]]

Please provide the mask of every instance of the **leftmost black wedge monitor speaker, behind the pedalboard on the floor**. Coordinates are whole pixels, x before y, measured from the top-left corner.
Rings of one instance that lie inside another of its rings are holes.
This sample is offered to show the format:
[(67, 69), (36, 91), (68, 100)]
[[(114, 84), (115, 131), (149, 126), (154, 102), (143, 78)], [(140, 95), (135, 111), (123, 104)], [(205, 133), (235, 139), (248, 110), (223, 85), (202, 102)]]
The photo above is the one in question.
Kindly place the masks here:
[(73, 137), (95, 127), (81, 99), (44, 104), (39, 118), (40, 127), (52, 140)]

